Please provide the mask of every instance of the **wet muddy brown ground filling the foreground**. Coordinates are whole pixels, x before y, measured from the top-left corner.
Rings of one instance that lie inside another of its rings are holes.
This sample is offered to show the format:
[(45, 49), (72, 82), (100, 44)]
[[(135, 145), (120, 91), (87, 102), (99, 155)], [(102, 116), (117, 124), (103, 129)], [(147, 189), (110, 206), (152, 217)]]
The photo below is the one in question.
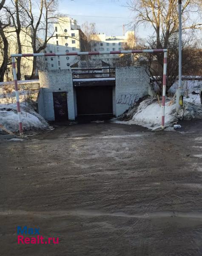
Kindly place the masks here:
[[(90, 123), (0, 140), (0, 255), (202, 255), (202, 121), (183, 127)], [(17, 244), (25, 225), (59, 244)]]

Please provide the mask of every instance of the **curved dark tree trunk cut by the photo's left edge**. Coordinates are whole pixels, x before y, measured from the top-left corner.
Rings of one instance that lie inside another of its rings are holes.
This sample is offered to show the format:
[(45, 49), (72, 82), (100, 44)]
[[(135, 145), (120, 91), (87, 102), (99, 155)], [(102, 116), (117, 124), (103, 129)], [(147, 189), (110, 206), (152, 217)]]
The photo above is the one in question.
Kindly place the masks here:
[(3, 61), (0, 66), (0, 82), (3, 82), (4, 75), (6, 73), (6, 69), (7, 69), (7, 65), (8, 65), (8, 61), (9, 61), (9, 56), (8, 56), (9, 43), (8, 43), (6, 35), (3, 31), (1, 22), (0, 22), (0, 36), (3, 40)]

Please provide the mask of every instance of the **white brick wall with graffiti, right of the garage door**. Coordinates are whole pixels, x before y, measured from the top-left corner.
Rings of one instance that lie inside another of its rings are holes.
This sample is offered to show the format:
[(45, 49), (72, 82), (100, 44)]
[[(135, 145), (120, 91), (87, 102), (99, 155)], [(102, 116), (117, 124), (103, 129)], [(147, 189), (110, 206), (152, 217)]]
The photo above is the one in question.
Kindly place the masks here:
[(115, 115), (119, 116), (139, 98), (148, 95), (149, 83), (144, 67), (116, 68)]

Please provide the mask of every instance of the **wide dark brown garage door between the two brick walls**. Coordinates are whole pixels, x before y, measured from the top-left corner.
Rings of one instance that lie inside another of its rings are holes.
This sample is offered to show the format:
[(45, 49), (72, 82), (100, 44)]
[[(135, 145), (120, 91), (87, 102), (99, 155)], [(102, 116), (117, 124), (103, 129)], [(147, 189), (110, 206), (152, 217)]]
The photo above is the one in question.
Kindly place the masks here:
[(77, 114), (112, 116), (112, 87), (77, 87)]

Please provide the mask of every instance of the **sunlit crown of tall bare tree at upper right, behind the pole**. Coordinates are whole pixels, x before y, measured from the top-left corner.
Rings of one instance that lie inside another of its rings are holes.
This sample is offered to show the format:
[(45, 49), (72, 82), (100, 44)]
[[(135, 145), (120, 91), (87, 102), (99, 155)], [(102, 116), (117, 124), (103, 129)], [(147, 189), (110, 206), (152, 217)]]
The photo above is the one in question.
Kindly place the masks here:
[[(193, 13), (200, 14), (199, 4), (201, 0), (182, 0), (183, 29), (202, 29), (202, 24), (191, 21), (190, 17)], [(169, 38), (178, 32), (178, 0), (130, 0), (128, 8), (134, 12), (135, 26), (151, 25), (156, 47), (167, 48)]]

